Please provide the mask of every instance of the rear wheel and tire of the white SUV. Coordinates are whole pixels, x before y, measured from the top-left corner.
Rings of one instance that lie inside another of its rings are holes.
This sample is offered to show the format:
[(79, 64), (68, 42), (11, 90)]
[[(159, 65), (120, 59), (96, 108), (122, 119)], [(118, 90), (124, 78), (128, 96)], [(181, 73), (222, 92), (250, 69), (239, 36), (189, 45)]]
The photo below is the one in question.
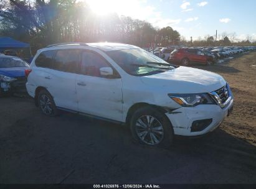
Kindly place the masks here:
[(42, 114), (47, 116), (57, 116), (59, 111), (55, 106), (52, 95), (47, 90), (41, 90), (38, 94), (38, 105)]

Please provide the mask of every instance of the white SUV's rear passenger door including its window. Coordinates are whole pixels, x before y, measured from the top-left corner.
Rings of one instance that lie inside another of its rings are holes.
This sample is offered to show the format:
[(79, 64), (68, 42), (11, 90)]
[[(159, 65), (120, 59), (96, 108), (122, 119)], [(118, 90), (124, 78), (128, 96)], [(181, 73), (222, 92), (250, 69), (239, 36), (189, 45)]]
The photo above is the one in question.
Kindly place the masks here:
[[(77, 111), (77, 71), (80, 49), (57, 50), (48, 80), (56, 106)], [(47, 80), (47, 79), (46, 79)]]

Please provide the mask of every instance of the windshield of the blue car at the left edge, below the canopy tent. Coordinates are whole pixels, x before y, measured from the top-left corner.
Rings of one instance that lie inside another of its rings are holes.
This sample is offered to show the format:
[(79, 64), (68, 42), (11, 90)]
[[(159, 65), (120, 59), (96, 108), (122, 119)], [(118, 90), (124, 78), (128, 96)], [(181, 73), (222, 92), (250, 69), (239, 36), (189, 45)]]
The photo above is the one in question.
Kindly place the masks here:
[(19, 58), (0, 57), (0, 68), (29, 67)]

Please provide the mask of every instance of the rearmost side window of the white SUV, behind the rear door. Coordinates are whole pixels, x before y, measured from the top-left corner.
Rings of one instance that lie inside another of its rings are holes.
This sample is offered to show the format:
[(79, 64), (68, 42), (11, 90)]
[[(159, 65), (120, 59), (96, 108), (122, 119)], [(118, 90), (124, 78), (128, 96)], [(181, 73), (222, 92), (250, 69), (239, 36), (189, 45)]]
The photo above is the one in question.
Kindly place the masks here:
[(51, 68), (52, 57), (54, 56), (55, 52), (55, 50), (41, 52), (40, 55), (36, 58), (36, 66), (42, 68)]

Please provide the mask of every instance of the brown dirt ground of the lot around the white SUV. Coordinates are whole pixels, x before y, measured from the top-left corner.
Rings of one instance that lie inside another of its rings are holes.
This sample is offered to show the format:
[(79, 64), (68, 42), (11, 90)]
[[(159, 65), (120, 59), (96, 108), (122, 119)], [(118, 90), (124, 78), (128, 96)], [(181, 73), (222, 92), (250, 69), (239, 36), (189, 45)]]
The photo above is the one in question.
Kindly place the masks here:
[(211, 67), (235, 96), (211, 135), (169, 150), (131, 142), (125, 126), (63, 113), (29, 98), (0, 99), (0, 183), (256, 183), (256, 52)]

